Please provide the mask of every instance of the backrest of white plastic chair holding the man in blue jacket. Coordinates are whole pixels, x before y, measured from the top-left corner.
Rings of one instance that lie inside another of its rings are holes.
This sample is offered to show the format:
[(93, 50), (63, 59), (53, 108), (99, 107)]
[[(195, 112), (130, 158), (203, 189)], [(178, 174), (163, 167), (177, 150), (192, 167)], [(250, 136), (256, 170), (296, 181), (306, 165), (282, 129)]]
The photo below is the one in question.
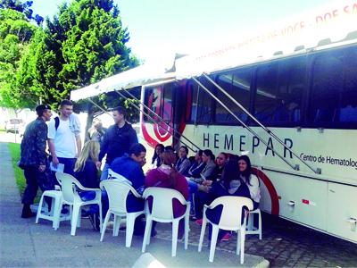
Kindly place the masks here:
[(137, 193), (128, 183), (117, 180), (102, 180), (100, 188), (108, 194), (109, 209), (117, 213), (127, 213), (127, 197), (129, 192)]

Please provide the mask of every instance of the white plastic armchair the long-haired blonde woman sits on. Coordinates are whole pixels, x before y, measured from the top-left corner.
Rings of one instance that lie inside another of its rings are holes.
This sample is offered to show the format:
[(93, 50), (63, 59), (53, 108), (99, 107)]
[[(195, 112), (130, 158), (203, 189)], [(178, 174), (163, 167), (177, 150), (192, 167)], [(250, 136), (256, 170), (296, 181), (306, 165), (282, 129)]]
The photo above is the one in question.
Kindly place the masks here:
[[(80, 227), (80, 209), (83, 205), (98, 205), (99, 206), (99, 221), (102, 228), (102, 191), (100, 188), (85, 188), (77, 179), (67, 173), (56, 173), (58, 180), (62, 181), (62, 204), (70, 205), (71, 213), (71, 236), (76, 235), (76, 228)], [(79, 197), (77, 188), (82, 191), (94, 191), (95, 198), (93, 200), (83, 201)]]

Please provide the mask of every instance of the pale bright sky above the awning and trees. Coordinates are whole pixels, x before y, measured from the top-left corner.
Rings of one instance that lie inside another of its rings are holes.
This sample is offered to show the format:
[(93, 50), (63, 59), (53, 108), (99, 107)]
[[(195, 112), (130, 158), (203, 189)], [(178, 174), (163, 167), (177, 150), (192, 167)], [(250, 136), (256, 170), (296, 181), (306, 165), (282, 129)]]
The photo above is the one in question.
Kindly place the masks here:
[[(276, 21), (328, 0), (114, 0), (129, 29), (128, 46), (146, 62), (227, 46)], [(34, 13), (52, 18), (63, 0), (34, 0)], [(71, 0), (67, 0), (71, 2)]]

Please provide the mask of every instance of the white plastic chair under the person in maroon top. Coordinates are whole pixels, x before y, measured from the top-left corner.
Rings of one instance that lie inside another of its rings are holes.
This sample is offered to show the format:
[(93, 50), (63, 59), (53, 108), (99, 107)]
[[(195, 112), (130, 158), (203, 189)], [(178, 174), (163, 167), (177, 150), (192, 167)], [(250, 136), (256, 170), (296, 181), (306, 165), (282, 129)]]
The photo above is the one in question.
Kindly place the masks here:
[[(146, 225), (143, 240), (142, 252), (145, 252), (146, 245), (150, 244), (152, 223), (155, 222), (172, 222), (172, 248), (171, 255), (176, 256), (176, 247), (178, 244), (179, 220), (185, 218), (185, 249), (188, 246), (188, 222), (190, 202), (186, 201), (181, 193), (171, 188), (150, 187), (146, 188), (143, 197), (146, 199)], [(153, 197), (152, 211), (148, 209), (147, 197)], [(186, 213), (178, 218), (174, 218), (172, 199), (177, 199), (182, 205), (187, 205)]]

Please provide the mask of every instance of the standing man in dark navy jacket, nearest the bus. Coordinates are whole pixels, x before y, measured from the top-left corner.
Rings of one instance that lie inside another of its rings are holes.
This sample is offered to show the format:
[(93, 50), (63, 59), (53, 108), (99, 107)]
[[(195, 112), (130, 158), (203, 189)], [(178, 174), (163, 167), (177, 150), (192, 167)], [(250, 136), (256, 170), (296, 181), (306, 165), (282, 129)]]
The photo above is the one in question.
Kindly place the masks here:
[(129, 148), (137, 143), (137, 132), (125, 121), (126, 111), (122, 107), (116, 107), (112, 110), (114, 124), (105, 132), (99, 160), (96, 166), (99, 168), (106, 155), (106, 162), (101, 175), (101, 180), (108, 178), (108, 168), (112, 161), (124, 154), (129, 154)]

